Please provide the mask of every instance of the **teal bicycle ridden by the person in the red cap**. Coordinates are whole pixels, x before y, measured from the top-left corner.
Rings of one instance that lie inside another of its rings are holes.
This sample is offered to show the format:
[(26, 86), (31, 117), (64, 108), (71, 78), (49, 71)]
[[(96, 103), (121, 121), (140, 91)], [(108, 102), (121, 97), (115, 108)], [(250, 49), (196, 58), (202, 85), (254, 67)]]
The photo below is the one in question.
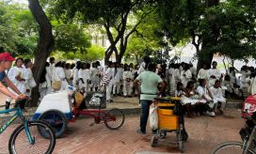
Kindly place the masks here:
[[(10, 154), (16, 153), (46, 153), (53, 152), (56, 145), (56, 136), (46, 122), (40, 120), (28, 120), (24, 117), (23, 111), (19, 105), (13, 109), (0, 111), (0, 114), (15, 112), (14, 115), (0, 125), (0, 134), (16, 119), (23, 121), (10, 135), (8, 141), (8, 151)], [(47, 134), (47, 137), (41, 135), (41, 132)]]

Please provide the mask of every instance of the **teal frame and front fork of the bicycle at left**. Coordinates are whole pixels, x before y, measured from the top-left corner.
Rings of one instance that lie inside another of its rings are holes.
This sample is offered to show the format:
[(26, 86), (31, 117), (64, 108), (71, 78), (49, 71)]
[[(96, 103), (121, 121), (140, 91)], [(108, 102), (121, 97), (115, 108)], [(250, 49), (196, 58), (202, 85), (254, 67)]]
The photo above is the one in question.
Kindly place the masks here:
[(24, 122), (24, 130), (25, 130), (25, 134), (26, 134), (26, 137), (29, 141), (29, 143), (31, 145), (33, 145), (35, 143), (35, 140), (31, 137), (31, 133), (28, 129), (28, 121), (24, 118), (24, 115), (23, 115), (23, 111), (20, 107), (17, 107), (17, 108), (13, 108), (13, 109), (8, 109), (8, 110), (3, 110), (3, 111), (0, 111), (0, 114), (6, 114), (6, 113), (9, 113), (9, 112), (14, 112), (16, 111), (16, 113), (14, 115), (11, 116), (10, 119), (8, 119), (8, 121), (0, 128), (0, 134), (2, 132), (4, 132), (5, 130), (7, 130), (8, 126), (17, 118), (17, 117), (20, 117), (23, 122)]

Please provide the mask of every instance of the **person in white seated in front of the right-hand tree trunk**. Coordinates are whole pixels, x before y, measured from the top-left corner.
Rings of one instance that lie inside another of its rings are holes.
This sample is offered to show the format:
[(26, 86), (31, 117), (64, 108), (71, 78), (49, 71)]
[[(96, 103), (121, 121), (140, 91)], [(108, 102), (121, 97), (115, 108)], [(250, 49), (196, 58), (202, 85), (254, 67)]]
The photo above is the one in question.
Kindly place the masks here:
[[(204, 112), (207, 115), (216, 116), (214, 109), (216, 106), (216, 100), (213, 100), (213, 96), (206, 86), (206, 80), (200, 79), (200, 85), (196, 90), (200, 95), (200, 102), (204, 105)], [(202, 114), (202, 113), (201, 113)]]

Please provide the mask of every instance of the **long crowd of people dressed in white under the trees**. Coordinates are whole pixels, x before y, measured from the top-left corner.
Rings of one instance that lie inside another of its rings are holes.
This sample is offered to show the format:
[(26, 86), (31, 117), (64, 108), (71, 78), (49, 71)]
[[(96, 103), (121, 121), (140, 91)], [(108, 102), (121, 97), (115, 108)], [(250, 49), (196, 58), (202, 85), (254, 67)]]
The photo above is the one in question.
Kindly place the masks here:
[[(70, 64), (50, 57), (49, 62), (45, 63), (40, 78), (40, 100), (49, 93), (67, 89), (69, 85), (80, 89), (85, 94), (89, 91), (102, 91), (105, 85), (108, 102), (112, 102), (113, 97), (116, 96), (136, 97), (141, 90), (136, 88), (134, 82), (137, 76), (152, 64), (148, 56), (143, 60), (140, 65), (109, 61), (102, 66), (99, 61), (91, 64), (77, 61)], [(28, 96), (31, 89), (36, 86), (31, 71), (32, 66), (31, 59), (16, 58), (15, 65), (6, 72), (9, 81), (18, 88), (19, 93)], [(212, 63), (211, 69), (203, 65), (197, 73), (197, 69), (192, 64), (171, 63), (168, 67), (166, 64), (154, 65), (153, 72), (166, 86), (161, 96), (180, 97), (189, 117), (203, 114), (215, 116), (223, 113), (225, 97), (229, 95), (241, 97), (248, 92), (256, 93), (256, 71), (253, 67), (243, 66), (240, 71), (230, 68), (224, 74), (216, 66), (216, 61)], [(237, 73), (241, 76), (237, 77)], [(59, 85), (57, 88), (53, 85), (56, 82)], [(137, 83), (140, 84), (141, 81), (138, 80)], [(158, 88), (161, 89), (161, 87)], [(15, 92), (11, 85), (8, 86), (8, 90)], [(11, 100), (11, 97), (6, 100), (7, 109)], [(24, 100), (20, 101), (24, 104)]]

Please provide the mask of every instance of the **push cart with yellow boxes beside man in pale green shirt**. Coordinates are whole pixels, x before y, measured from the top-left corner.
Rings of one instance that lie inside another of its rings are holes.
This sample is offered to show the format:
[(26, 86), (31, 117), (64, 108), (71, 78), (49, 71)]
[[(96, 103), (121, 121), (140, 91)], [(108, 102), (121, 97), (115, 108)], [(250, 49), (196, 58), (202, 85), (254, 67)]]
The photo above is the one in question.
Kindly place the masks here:
[(152, 135), (151, 146), (157, 146), (159, 139), (164, 139), (167, 132), (176, 133), (176, 141), (174, 146), (179, 146), (181, 152), (184, 152), (184, 141), (187, 139), (187, 134), (184, 131), (184, 116), (174, 115), (174, 106), (181, 103), (180, 98), (155, 98), (158, 109), (158, 129)]

